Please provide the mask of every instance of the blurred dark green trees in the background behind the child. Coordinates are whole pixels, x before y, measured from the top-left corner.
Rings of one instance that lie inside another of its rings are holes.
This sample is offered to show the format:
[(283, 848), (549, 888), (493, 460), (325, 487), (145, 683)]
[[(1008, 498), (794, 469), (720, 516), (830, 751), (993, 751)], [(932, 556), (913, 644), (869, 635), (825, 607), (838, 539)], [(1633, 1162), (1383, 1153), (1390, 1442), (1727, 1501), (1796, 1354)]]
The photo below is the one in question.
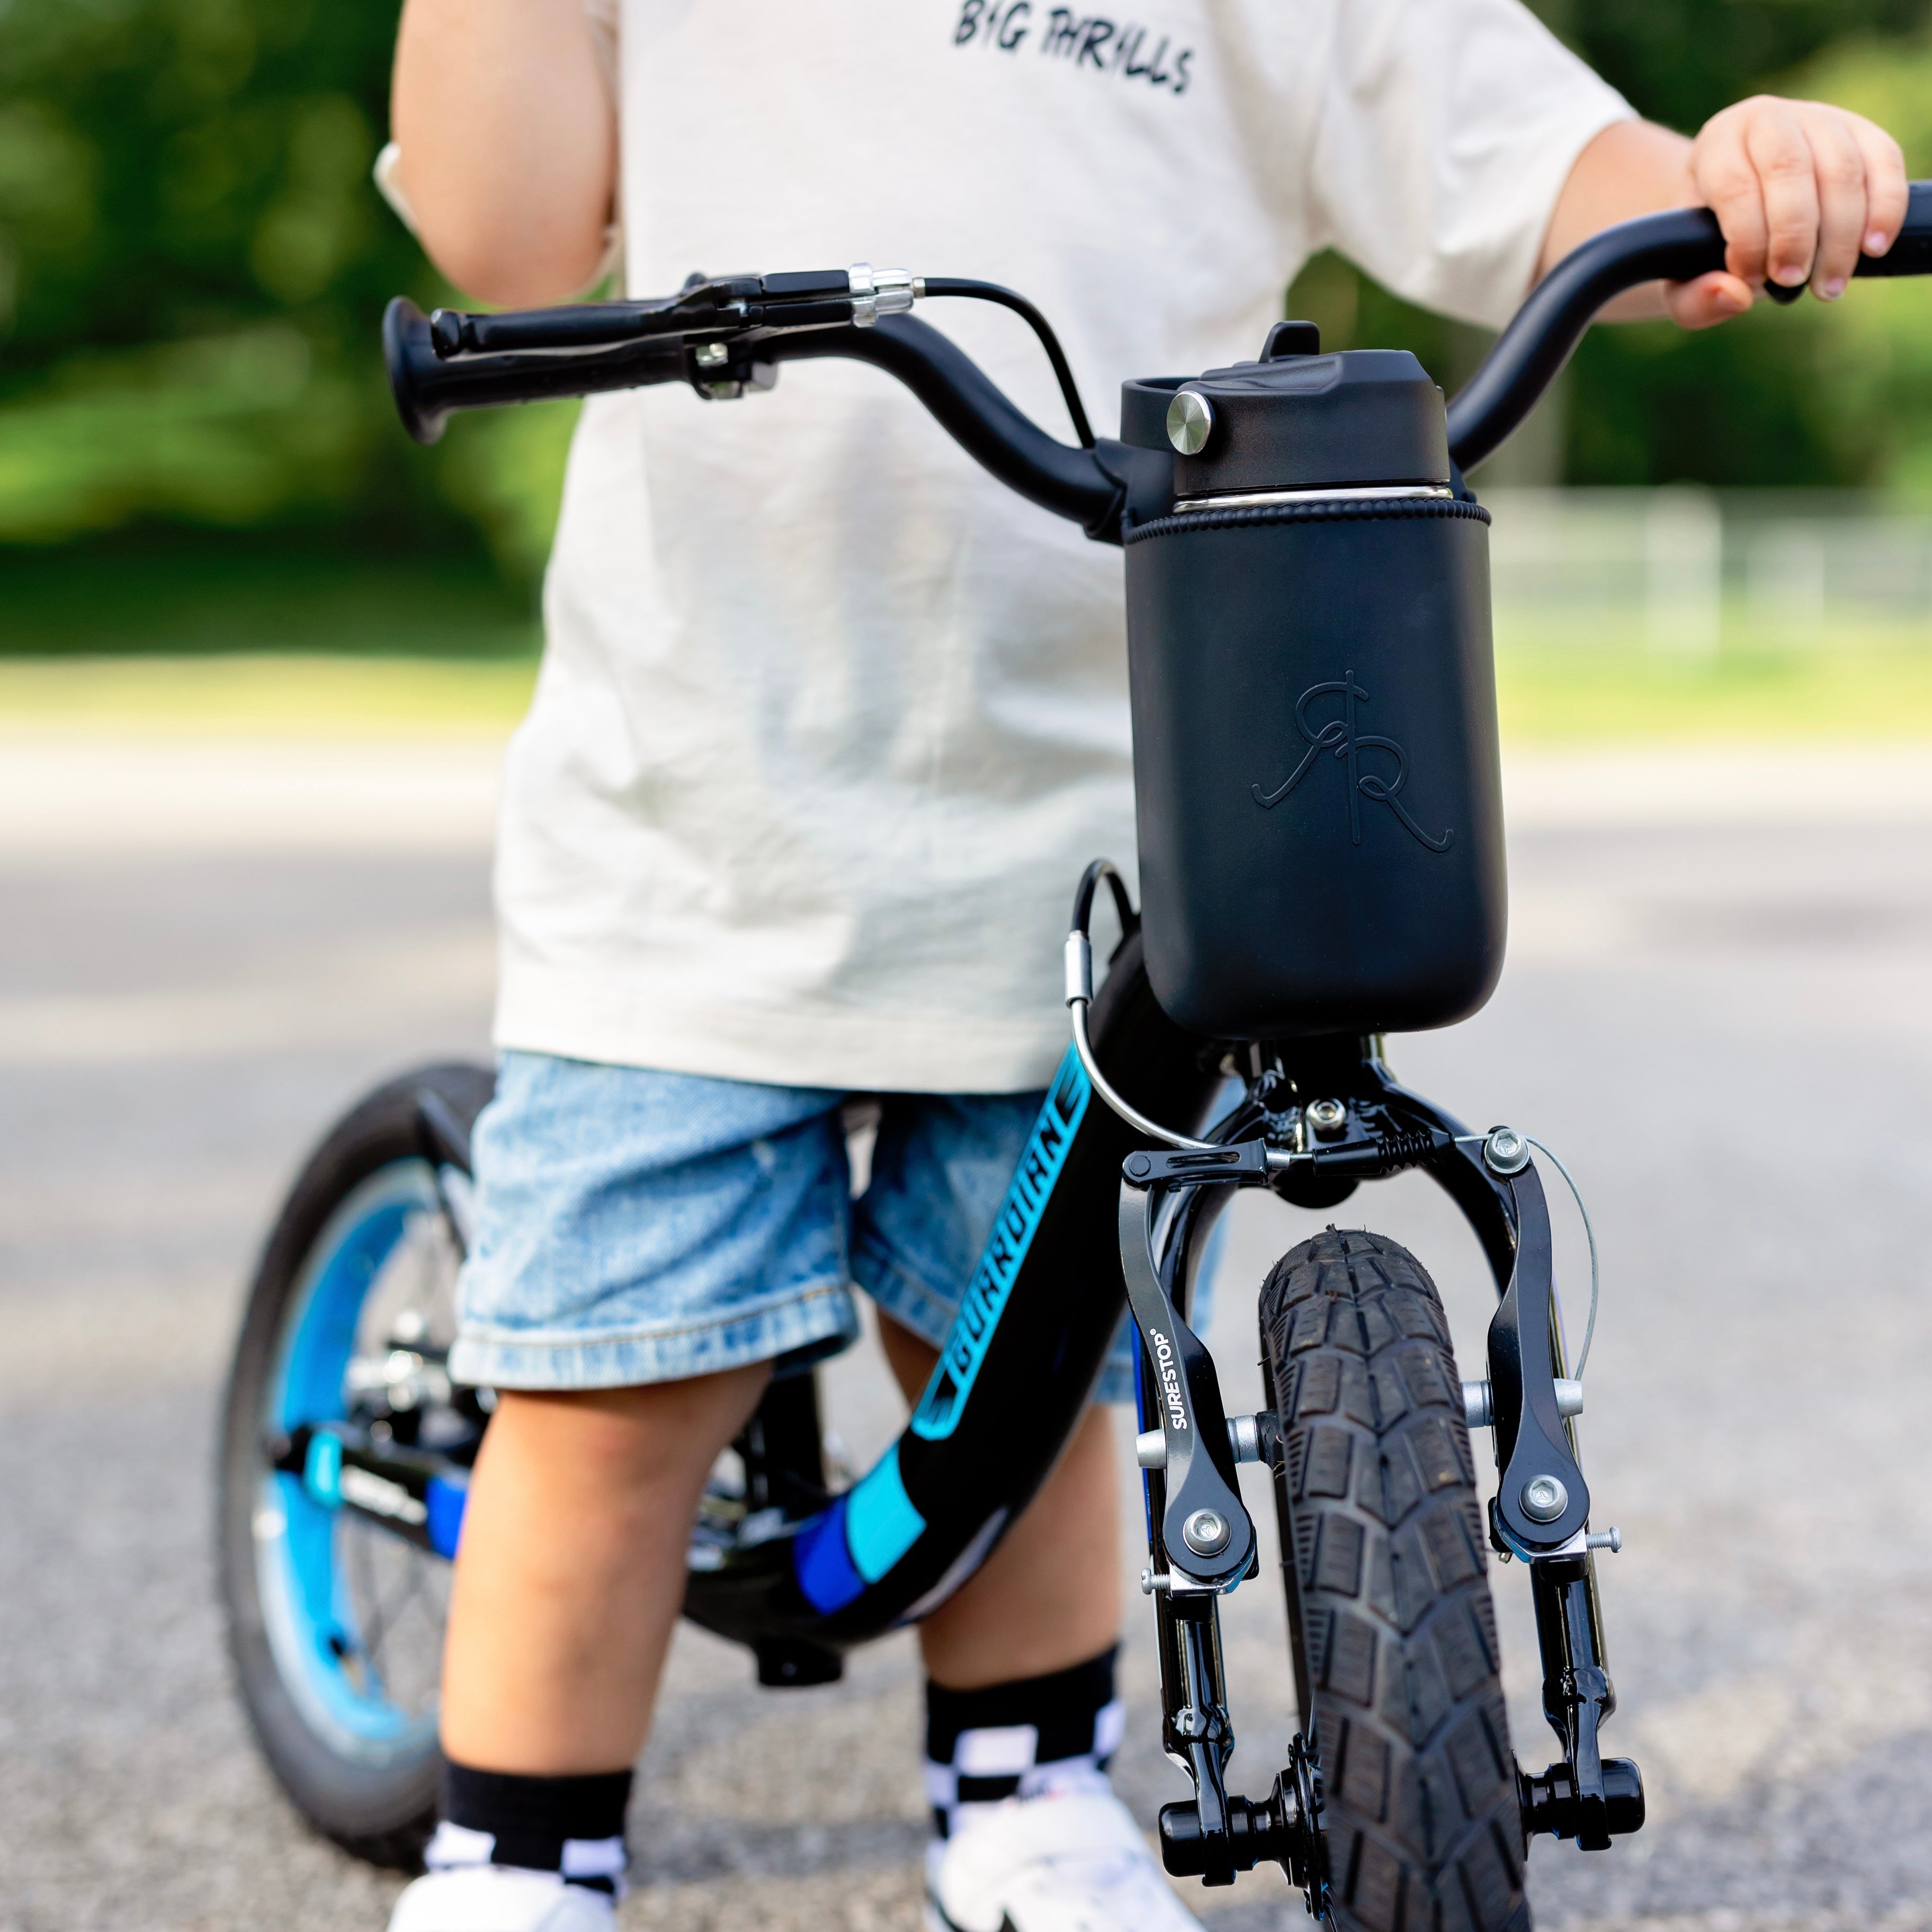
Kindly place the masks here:
[[(1675, 126), (1797, 87), (1886, 122), (1932, 172), (1928, 0), (1538, 4)], [(369, 182), (392, 33), (392, 6), (0, 0), (0, 547), (189, 526), (456, 554), (481, 535), (527, 582), (568, 410), (421, 452), (375, 355), (388, 296), (440, 294)], [(1598, 330), (1563, 468), (1932, 491), (1928, 303), (1866, 286), (1698, 338)], [(1296, 305), (1337, 342), (1408, 342), (1449, 383), (1480, 352), (1335, 259)]]

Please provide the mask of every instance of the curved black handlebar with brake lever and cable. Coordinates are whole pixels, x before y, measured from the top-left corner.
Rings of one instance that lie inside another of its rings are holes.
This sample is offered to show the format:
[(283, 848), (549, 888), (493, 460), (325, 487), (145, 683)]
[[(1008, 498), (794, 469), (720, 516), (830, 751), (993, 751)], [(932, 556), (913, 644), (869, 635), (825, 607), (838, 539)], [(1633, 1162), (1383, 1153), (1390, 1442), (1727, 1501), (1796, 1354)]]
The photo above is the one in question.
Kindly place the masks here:
[[(1613, 296), (1644, 282), (1689, 282), (1723, 267), (1723, 236), (1708, 209), (1646, 214), (1605, 228), (1565, 255), (1503, 330), (1484, 365), (1449, 404), (1449, 452), (1470, 469), (1530, 413)], [(1891, 251), (1861, 255), (1861, 276), (1932, 274), (1932, 182), (1913, 182)], [(869, 288), (871, 284), (864, 284)], [(985, 284), (906, 276), (914, 294), (983, 292)], [(1799, 292), (1774, 290), (1777, 299)], [(1010, 292), (995, 292), (1007, 299)], [(1171, 469), (1159, 452), (1099, 439), (1072, 448), (1047, 435), (937, 328), (875, 307), (840, 270), (782, 276), (694, 276), (663, 301), (583, 303), (522, 315), (425, 317), (396, 299), (383, 317), (383, 354), (404, 427), (417, 442), (442, 435), (450, 410), (591, 396), (655, 383), (690, 383), (701, 396), (740, 396), (775, 381), (781, 361), (842, 355), (898, 377), (960, 446), (995, 477), (1090, 537), (1119, 543), (1122, 514), (1165, 508)], [(1022, 298), (1063, 377), (1084, 433), (1065, 357)]]

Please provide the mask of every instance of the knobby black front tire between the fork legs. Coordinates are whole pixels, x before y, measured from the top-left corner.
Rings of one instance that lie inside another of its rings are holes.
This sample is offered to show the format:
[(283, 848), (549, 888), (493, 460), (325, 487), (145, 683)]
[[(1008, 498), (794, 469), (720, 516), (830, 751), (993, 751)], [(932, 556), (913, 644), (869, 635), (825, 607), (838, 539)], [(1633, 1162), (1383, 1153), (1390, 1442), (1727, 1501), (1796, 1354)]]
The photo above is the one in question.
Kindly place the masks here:
[(1262, 1289), (1302, 1727), (1339, 1932), (1528, 1932), (1482, 1515), (1441, 1298), (1327, 1229)]

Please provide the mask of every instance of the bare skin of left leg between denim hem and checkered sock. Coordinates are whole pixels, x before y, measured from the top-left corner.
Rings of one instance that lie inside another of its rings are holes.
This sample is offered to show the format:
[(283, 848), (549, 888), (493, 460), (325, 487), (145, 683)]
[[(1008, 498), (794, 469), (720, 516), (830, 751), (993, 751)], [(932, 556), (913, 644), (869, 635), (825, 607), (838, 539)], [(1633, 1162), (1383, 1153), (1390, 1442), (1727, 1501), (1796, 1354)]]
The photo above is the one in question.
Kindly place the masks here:
[(684, 1602), (705, 1476), (759, 1362), (636, 1389), (498, 1397), (450, 1594), (442, 1748), (493, 1772), (626, 1770)]

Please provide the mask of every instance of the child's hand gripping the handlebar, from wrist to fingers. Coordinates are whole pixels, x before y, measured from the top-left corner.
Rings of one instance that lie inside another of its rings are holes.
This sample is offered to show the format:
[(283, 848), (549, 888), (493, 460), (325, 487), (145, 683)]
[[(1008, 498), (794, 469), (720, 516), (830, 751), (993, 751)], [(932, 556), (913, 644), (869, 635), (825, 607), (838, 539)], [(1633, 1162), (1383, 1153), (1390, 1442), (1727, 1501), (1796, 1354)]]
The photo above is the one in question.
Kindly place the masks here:
[(1692, 199), (1718, 214), (1727, 247), (1725, 272), (1665, 286), (1685, 328), (1743, 315), (1766, 282), (1810, 282), (1837, 301), (1861, 251), (1884, 255), (1905, 220), (1899, 143), (1820, 100), (1739, 100), (1704, 124), (1689, 164)]

